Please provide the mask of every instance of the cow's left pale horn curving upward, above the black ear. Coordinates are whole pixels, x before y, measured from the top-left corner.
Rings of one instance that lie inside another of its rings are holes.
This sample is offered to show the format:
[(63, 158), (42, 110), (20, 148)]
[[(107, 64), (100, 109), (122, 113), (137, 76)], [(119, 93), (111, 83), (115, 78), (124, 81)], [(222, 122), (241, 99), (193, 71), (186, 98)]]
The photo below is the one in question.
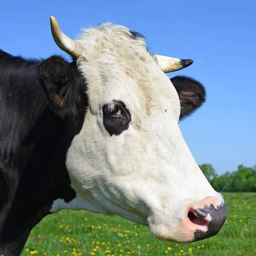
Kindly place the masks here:
[(50, 16), (51, 29), (52, 29), (52, 37), (55, 43), (60, 47), (64, 52), (67, 52), (71, 56), (78, 58), (82, 52), (81, 45), (67, 37), (60, 29), (58, 25), (58, 21), (55, 17)]

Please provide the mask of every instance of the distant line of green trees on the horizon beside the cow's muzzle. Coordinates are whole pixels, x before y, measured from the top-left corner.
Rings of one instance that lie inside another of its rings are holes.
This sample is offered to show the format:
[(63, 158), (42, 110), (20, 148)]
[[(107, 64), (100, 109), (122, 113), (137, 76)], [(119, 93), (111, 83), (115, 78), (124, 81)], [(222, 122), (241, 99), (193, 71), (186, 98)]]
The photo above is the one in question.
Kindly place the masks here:
[(225, 172), (218, 176), (211, 164), (199, 166), (212, 187), (221, 192), (256, 192), (256, 165), (245, 167), (239, 165), (237, 171)]

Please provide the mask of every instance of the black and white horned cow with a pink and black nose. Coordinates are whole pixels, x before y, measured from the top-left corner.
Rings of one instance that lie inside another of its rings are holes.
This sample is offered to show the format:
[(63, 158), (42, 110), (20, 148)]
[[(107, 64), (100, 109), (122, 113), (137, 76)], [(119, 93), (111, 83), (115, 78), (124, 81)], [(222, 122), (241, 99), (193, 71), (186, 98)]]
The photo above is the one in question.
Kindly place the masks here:
[(61, 209), (119, 215), (169, 241), (217, 234), (227, 208), (178, 125), (205, 89), (165, 74), (193, 61), (150, 53), (124, 26), (72, 40), (50, 22), (72, 61), (0, 51), (0, 255), (20, 255), (32, 228)]

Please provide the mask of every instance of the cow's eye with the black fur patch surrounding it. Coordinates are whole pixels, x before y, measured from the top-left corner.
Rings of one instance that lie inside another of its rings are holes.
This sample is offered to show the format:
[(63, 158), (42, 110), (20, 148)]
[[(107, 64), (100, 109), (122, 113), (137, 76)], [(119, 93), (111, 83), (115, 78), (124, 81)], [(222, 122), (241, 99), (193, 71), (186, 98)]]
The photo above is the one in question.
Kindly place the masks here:
[(121, 101), (103, 106), (103, 124), (110, 135), (119, 135), (129, 127), (131, 114)]

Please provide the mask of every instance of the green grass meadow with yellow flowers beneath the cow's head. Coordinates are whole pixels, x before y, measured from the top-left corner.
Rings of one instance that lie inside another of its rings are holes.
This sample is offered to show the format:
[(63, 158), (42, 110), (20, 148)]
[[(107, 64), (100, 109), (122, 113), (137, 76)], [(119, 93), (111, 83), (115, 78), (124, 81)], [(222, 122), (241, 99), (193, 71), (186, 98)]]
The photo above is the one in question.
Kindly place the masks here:
[[(228, 218), (221, 232), (191, 244), (155, 239), (148, 227), (118, 216), (62, 210), (31, 232), (21, 256), (193, 255), (255, 256), (256, 193), (224, 193)], [(95, 253), (95, 254), (94, 254)]]

